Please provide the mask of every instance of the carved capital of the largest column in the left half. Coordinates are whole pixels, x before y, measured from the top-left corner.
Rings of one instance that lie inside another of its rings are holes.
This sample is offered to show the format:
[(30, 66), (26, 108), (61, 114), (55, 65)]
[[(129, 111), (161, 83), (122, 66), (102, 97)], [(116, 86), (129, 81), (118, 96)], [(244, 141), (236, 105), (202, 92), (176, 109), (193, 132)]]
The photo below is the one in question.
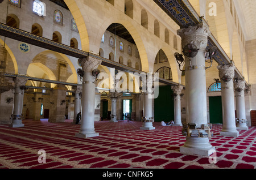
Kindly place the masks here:
[(93, 70), (98, 68), (102, 61), (100, 59), (88, 56), (78, 59), (78, 62), (82, 66), (82, 70), (84, 70), (84, 72), (92, 72)]

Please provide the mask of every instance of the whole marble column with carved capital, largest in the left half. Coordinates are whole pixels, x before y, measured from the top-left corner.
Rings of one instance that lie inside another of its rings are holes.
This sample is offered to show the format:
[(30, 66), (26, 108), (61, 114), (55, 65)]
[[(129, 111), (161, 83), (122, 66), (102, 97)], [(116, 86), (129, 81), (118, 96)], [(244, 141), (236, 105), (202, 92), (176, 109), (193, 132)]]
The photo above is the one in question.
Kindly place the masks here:
[(79, 59), (79, 63), (84, 71), (84, 76), (82, 78), (81, 126), (76, 136), (80, 138), (90, 138), (99, 135), (94, 130), (96, 79), (92, 75), (92, 71), (98, 68), (101, 61), (93, 57), (86, 57)]

